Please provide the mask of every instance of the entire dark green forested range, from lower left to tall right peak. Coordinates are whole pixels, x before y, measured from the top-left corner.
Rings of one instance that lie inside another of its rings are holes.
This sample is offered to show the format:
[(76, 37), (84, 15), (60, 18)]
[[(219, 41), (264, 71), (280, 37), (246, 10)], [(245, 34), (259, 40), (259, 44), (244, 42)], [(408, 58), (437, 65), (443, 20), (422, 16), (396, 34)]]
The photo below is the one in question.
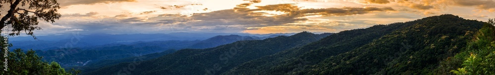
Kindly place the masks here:
[[(82, 75), (451, 75), (469, 53), (487, 58), (482, 65), (493, 64), (493, 30), (486, 22), (444, 14), (335, 34), (301, 32), (179, 49)], [(483, 70), (493, 73), (493, 67)]]

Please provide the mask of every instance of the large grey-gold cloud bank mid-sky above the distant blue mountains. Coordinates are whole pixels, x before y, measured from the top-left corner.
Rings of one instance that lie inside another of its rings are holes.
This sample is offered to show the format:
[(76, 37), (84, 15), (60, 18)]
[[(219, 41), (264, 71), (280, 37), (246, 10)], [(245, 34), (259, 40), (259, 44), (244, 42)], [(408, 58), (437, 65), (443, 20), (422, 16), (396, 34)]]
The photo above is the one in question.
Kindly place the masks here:
[[(170, 31), (210, 31), (210, 32), (225, 32), (225, 31), (245, 31), (245, 30), (266, 30), (271, 31), (277, 27), (280, 28), (297, 28), (290, 31), (299, 30), (318, 30), (327, 31), (324, 27), (318, 26), (326, 23), (302, 24), (301, 22), (308, 21), (305, 16), (352, 16), (357, 14), (367, 14), (372, 12), (388, 12), (397, 11), (392, 7), (340, 7), (340, 8), (320, 8), (320, 9), (301, 9), (294, 4), (276, 4), (255, 6), (255, 9), (245, 7), (237, 7), (237, 9), (225, 9), (212, 11), (207, 13), (195, 13), (192, 16), (180, 16), (178, 14), (162, 14), (149, 19), (161, 19), (156, 22), (141, 23), (138, 25), (158, 26), (155, 28), (164, 28), (163, 30)], [(282, 14), (270, 14), (264, 11), (280, 11)], [(137, 19), (137, 18), (135, 18)], [(148, 19), (148, 20), (149, 20)], [(350, 23), (350, 22), (349, 22)], [(356, 22), (356, 23), (362, 23)], [(332, 24), (339, 25), (339, 24)], [(349, 25), (349, 24), (347, 24)], [(309, 27), (308, 27), (309, 26)], [(343, 26), (343, 24), (340, 24)], [(271, 28), (266, 28), (271, 27)], [(336, 26), (338, 27), (338, 26)], [(332, 27), (332, 28), (336, 28)], [(354, 27), (342, 28), (336, 31), (348, 30)], [(359, 28), (363, 28), (359, 26)], [(269, 30), (270, 29), (270, 30)], [(253, 31), (250, 31), (253, 32)]]

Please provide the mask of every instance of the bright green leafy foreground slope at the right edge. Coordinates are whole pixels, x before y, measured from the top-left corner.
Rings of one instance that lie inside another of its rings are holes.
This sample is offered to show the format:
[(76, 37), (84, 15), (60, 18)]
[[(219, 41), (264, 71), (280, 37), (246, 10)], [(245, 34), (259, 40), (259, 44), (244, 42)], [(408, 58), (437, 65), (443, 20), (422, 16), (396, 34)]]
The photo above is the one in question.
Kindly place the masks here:
[[(490, 24), (485, 23), (483, 28), (475, 33), (474, 38), (467, 40), (465, 49), (461, 49), (455, 56), (444, 59), (434, 73), (462, 75), (470, 72), (472, 75), (495, 75), (495, 22), (493, 20), (489, 21)], [(465, 71), (459, 71), (459, 69)]]

